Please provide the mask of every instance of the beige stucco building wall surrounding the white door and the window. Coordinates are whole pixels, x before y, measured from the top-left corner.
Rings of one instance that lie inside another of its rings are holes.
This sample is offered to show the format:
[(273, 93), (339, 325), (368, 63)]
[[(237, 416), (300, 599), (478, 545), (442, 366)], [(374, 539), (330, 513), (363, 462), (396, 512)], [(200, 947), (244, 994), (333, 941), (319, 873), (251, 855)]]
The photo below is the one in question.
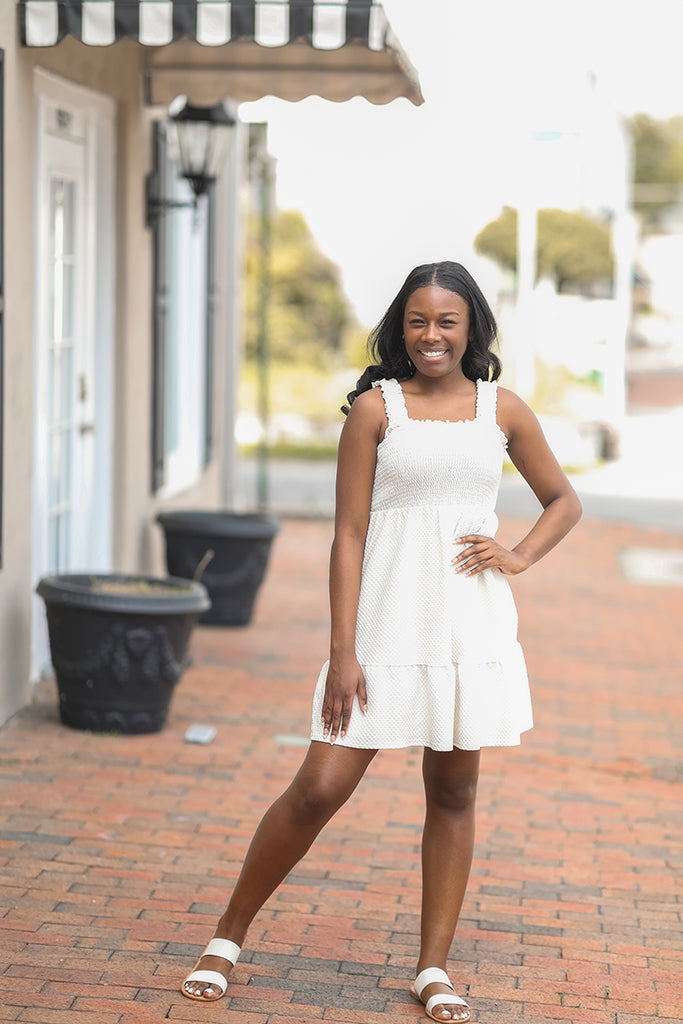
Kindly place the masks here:
[[(114, 569), (163, 571), (159, 507), (151, 493), (152, 245), (144, 225), (144, 177), (151, 161), (153, 113), (142, 104), (140, 48), (124, 41), (86, 47), (73, 39), (45, 50), (17, 42), (14, 4), (0, 5), (5, 49), (5, 442), (4, 549), (0, 569), (0, 722), (30, 695), (32, 464), (34, 418), (34, 69), (42, 68), (117, 104), (116, 339), (112, 560)], [(159, 112), (157, 112), (159, 113)], [(225, 239), (219, 240), (219, 246)], [(225, 283), (224, 292), (229, 291)], [(216, 324), (216, 451), (199, 483), (167, 504), (218, 506), (225, 435), (222, 384), (229, 310)], [(229, 359), (227, 361), (230, 361)]]

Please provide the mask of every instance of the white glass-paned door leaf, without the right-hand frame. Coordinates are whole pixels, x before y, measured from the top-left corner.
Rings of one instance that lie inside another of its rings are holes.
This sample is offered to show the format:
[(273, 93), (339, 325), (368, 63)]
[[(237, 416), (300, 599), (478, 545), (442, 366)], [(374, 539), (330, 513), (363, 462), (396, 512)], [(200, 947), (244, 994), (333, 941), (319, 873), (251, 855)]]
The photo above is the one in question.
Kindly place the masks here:
[[(36, 188), (36, 387), (33, 574), (87, 566), (92, 493), (86, 119), (41, 108)], [(34, 605), (32, 675), (49, 666), (42, 602)]]

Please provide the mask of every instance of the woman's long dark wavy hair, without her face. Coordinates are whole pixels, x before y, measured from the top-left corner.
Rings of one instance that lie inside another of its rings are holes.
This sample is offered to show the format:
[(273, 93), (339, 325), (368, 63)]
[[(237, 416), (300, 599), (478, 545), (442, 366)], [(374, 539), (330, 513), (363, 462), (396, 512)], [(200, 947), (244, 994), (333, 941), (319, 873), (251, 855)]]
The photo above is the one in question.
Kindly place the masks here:
[(496, 381), (501, 376), (501, 360), (493, 351), (497, 339), (496, 319), (472, 274), (462, 263), (453, 263), (451, 260), (423, 263), (411, 270), (398, 295), (377, 327), (370, 332), (368, 350), (374, 361), (358, 378), (355, 390), (349, 391), (346, 396), (348, 406), (342, 406), (343, 413), (348, 413), (353, 400), (364, 391), (369, 391), (375, 381), (390, 377), (408, 380), (413, 377), (415, 367), (408, 357), (403, 343), (403, 313), (413, 292), (430, 285), (455, 292), (469, 307), (469, 339), (462, 362), (465, 376), (471, 381)]

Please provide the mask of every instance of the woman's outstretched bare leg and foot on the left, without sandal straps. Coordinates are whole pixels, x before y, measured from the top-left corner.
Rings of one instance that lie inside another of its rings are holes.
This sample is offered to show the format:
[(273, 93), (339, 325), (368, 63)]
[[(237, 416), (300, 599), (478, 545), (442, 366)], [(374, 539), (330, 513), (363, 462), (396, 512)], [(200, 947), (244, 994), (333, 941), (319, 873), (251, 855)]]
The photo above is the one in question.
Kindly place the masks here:
[[(345, 804), (377, 751), (353, 750), (313, 741), (289, 788), (266, 811), (247, 852), (240, 878), (216, 937), (242, 945), (247, 929), (281, 882), (301, 860), (334, 813)], [(230, 965), (219, 956), (203, 956), (202, 971), (225, 977)], [(211, 1000), (216, 986), (185, 982), (188, 992)]]

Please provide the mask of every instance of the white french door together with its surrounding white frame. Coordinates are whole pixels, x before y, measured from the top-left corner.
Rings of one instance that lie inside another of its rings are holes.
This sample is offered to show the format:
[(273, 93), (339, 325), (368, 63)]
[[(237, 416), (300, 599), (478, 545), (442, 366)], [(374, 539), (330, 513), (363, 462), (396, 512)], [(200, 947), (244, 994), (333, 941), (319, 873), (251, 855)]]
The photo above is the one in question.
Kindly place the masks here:
[[(34, 581), (109, 568), (113, 226), (100, 202), (101, 110), (38, 80)], [(106, 110), (106, 106), (104, 106)], [(112, 178), (110, 169), (109, 177)], [(106, 174), (104, 175), (104, 186)], [(37, 602), (33, 674), (48, 664)]]

